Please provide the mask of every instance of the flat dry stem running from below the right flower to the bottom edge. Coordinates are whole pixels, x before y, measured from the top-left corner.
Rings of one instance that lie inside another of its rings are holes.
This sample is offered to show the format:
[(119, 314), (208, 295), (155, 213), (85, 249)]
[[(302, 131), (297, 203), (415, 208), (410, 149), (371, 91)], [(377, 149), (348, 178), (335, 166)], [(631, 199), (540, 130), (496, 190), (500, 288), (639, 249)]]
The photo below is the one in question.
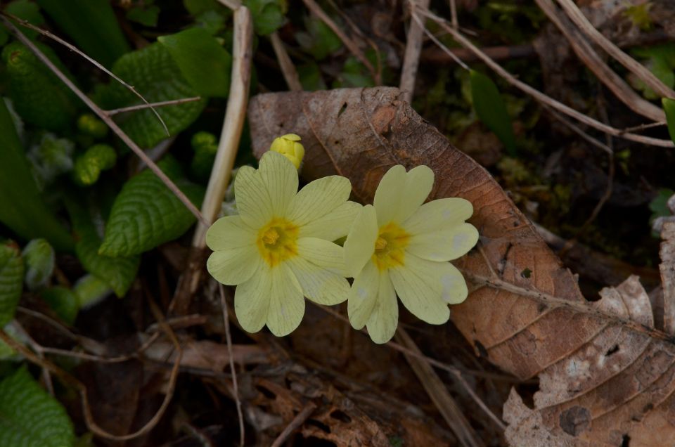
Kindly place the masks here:
[[(413, 339), (411, 339), (404, 328), (399, 326), (394, 338), (411, 351), (421, 354), (420, 349), (415, 342), (413, 342)], [(440, 377), (438, 377), (434, 368), (432, 368), (429, 363), (420, 361), (417, 357), (408, 356), (407, 354), (404, 354), (404, 356), (436, 408), (438, 408), (443, 416), (445, 422), (457, 436), (459, 443), (463, 446), (470, 447), (481, 446), (482, 443), (477, 438), (469, 421), (464, 417), (464, 414), (457, 405), (455, 399), (450, 396), (448, 389), (445, 387), (445, 384), (443, 384)]]

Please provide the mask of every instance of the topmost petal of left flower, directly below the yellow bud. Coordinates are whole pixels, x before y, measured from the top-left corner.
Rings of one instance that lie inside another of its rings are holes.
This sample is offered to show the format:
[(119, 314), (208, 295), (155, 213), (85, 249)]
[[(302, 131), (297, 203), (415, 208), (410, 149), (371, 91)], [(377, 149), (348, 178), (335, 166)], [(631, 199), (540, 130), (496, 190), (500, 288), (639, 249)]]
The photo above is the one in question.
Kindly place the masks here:
[(258, 171), (269, 193), (272, 214), (284, 216), (297, 193), (297, 170), (293, 163), (279, 153), (268, 151), (262, 155)]

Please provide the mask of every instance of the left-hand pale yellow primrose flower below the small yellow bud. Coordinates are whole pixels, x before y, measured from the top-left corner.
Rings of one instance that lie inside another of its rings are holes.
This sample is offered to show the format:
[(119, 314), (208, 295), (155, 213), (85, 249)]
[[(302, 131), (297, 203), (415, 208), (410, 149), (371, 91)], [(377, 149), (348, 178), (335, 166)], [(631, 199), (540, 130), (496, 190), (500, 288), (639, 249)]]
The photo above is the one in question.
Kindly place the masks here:
[(214, 252), (206, 265), (221, 283), (238, 286), (234, 310), (242, 328), (267, 325), (281, 337), (300, 325), (303, 296), (319, 304), (347, 299), (344, 250), (330, 241), (347, 234), (361, 208), (347, 200), (351, 190), (345, 177), (328, 176), (298, 192), (297, 170), (274, 152), (262, 156), (259, 169), (239, 169), (239, 215), (207, 231)]

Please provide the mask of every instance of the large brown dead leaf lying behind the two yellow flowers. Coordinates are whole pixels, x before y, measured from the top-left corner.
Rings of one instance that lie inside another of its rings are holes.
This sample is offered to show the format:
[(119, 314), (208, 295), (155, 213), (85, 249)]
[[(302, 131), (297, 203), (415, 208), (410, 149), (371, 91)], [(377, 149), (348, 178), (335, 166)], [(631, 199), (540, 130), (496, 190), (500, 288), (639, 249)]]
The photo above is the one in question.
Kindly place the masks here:
[(452, 318), (477, 354), (518, 377), (539, 375), (533, 409), (515, 391), (505, 405), (512, 445), (673, 442), (675, 349), (655, 330), (637, 278), (586, 302), (487, 171), (399, 101), (397, 89), (269, 93), (252, 99), (249, 118), (256, 155), (278, 135), (300, 134), (303, 176), (347, 176), (364, 203), (394, 164), (427, 164), (432, 197), (473, 203), (481, 239), (456, 265), (475, 287)]

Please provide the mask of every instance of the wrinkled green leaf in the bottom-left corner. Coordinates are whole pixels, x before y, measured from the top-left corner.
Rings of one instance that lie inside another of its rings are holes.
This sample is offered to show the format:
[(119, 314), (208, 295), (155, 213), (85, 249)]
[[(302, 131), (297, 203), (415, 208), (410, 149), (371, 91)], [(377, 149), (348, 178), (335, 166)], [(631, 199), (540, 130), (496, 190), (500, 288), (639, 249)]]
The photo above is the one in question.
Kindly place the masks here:
[(0, 382), (0, 445), (72, 447), (75, 432), (65, 408), (41, 389), (26, 368)]

